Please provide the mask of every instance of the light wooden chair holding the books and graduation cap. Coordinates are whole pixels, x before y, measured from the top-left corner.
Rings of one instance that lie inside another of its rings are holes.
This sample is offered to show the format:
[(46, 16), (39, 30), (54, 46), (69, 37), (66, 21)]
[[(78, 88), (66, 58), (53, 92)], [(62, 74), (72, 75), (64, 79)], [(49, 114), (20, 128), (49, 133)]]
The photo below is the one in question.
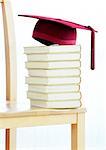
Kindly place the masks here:
[[(5, 149), (16, 150), (16, 128), (70, 124), (71, 150), (85, 150), (85, 108), (79, 109), (19, 109), (17, 99), (17, 65), (14, 24), (11, 5), (0, 0), (2, 6), (6, 53), (6, 103), (0, 105), (0, 128), (6, 129)], [(5, 109), (4, 109), (5, 108)]]

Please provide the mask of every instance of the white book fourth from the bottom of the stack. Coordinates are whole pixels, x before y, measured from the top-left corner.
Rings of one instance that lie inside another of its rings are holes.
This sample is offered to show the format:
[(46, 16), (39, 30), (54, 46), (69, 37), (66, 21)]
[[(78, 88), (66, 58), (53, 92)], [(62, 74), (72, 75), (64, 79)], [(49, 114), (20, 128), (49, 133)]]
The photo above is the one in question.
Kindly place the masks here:
[(80, 77), (26, 77), (27, 84), (37, 85), (64, 85), (64, 84), (80, 84)]

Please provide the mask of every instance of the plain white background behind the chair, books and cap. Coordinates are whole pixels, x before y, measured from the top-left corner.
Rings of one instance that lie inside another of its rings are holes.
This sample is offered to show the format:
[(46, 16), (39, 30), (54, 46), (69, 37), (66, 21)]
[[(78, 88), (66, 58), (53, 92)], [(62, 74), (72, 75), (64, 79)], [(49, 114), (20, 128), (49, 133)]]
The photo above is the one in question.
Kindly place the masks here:
[[(86, 113), (86, 149), (106, 149), (106, 21), (105, 0), (13, 0), (13, 15), (17, 43), (18, 101), (27, 103), (25, 85), (26, 57), (24, 46), (40, 45), (32, 39), (36, 19), (18, 17), (18, 14), (43, 15), (90, 25), (98, 30), (96, 34), (96, 69), (90, 70), (90, 32), (78, 30), (77, 44), (82, 53), (82, 101)], [(0, 10), (1, 11), (1, 10)], [(0, 19), (0, 33), (2, 19)], [(0, 41), (0, 100), (5, 100), (5, 68), (3, 38)], [(4, 143), (1, 131), (0, 146)], [(20, 150), (70, 149), (70, 125), (33, 127), (17, 129), (17, 146)], [(1, 148), (3, 149), (3, 147)]]

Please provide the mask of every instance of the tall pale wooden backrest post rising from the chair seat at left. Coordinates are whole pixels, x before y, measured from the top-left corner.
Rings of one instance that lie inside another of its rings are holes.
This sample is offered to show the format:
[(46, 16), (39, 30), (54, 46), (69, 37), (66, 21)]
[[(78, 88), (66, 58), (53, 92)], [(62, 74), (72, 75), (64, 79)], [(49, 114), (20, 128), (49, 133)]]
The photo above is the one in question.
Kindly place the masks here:
[(3, 16), (4, 45), (6, 59), (6, 100), (17, 98), (16, 40), (13, 14), (9, 0), (0, 0)]

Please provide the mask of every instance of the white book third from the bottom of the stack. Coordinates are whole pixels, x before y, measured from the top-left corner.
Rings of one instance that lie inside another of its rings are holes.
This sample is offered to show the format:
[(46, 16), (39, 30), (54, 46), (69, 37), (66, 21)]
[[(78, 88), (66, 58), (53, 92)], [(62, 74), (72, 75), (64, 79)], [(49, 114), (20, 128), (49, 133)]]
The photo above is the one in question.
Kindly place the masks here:
[(79, 85), (28, 85), (28, 91), (40, 92), (40, 93), (58, 93), (58, 92), (78, 92), (80, 89)]

